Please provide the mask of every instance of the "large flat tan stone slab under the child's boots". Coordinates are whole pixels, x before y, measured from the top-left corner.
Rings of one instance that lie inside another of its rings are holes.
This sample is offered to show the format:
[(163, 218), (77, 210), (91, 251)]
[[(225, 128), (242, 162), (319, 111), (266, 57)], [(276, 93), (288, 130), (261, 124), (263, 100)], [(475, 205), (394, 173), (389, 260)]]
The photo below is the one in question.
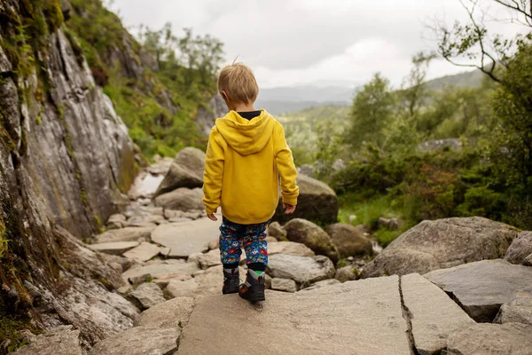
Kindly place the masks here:
[(238, 324), (261, 329), (246, 338), (257, 355), (410, 355), (398, 288), (395, 276), (295, 294), (267, 291), (261, 306), (239, 296), (207, 296), (192, 312), (177, 354), (233, 353), (241, 332), (213, 329)]

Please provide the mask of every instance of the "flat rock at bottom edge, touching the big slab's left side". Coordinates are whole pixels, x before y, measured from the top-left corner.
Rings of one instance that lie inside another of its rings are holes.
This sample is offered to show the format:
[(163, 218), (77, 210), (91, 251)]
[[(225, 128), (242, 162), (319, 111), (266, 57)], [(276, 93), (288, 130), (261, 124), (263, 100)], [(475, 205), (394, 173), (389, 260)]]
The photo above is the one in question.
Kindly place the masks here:
[(180, 330), (175, 327), (132, 327), (94, 345), (91, 355), (160, 355), (177, 350)]

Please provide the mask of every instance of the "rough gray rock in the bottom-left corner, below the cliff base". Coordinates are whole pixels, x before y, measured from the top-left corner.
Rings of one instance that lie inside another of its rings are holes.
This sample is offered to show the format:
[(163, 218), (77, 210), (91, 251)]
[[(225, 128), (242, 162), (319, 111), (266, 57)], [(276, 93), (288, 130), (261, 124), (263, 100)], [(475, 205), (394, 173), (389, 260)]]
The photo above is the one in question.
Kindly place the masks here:
[(17, 355), (83, 355), (80, 331), (60, 326), (42, 335), (32, 336), (31, 343), (14, 353)]

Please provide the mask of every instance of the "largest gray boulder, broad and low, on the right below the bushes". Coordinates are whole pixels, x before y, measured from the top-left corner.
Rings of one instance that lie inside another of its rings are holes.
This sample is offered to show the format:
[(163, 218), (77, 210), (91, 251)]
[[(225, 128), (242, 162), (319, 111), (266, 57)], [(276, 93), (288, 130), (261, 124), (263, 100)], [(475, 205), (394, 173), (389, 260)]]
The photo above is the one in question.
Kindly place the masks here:
[(482, 217), (424, 221), (392, 241), (363, 278), (426, 273), (485, 259), (504, 257), (518, 230)]

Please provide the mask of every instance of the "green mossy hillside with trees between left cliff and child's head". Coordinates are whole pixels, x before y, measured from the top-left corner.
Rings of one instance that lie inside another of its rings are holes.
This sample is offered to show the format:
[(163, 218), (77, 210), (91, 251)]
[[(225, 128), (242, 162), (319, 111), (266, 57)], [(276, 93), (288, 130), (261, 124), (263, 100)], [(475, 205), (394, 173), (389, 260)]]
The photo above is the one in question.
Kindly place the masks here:
[[(73, 0), (68, 35), (84, 53), (96, 83), (113, 100), (131, 138), (147, 156), (173, 156), (184, 146), (205, 147), (194, 122), (215, 93), (223, 44), (191, 29), (142, 28), (129, 35), (100, 0)], [(81, 59), (81, 56), (80, 56)]]

